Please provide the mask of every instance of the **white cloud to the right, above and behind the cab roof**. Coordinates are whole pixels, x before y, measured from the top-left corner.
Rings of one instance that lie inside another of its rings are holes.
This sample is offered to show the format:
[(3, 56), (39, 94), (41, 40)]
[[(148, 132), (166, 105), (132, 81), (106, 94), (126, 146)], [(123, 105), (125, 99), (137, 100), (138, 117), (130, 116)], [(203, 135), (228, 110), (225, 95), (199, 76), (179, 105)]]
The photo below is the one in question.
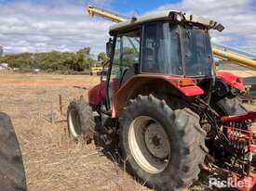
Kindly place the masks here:
[[(253, 7), (254, 2), (254, 7)], [(254, 0), (182, 0), (157, 9), (178, 9), (221, 22), (222, 33), (213, 32), (213, 42), (244, 48), (256, 54), (256, 10)]]

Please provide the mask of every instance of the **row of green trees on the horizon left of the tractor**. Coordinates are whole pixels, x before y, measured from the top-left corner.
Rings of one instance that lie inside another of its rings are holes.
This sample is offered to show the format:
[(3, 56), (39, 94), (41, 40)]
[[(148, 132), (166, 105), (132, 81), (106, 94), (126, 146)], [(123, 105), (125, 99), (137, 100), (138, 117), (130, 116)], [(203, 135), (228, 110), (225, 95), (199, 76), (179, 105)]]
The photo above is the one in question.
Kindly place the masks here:
[(0, 57), (0, 63), (7, 63), (12, 69), (22, 71), (35, 69), (46, 72), (76, 73), (88, 72), (90, 67), (99, 67), (107, 61), (106, 54), (101, 52), (93, 58), (90, 47), (75, 52), (52, 51), (47, 53), (21, 53)]

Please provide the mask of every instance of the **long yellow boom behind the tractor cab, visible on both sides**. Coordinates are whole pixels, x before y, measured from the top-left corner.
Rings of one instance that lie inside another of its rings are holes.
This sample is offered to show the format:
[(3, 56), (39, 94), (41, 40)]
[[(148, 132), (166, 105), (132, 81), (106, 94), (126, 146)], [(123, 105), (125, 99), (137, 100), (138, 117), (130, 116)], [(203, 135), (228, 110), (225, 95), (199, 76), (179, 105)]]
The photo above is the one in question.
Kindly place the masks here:
[[(91, 16), (91, 17), (93, 17), (95, 15), (98, 15), (98, 16), (101, 16), (102, 18), (110, 19), (110, 20), (112, 20), (114, 22), (117, 22), (117, 23), (127, 20), (127, 18), (125, 18), (125, 17), (122, 17), (122, 16), (120, 16), (118, 14), (115, 14), (111, 11), (104, 10), (104, 9), (99, 8), (97, 6), (89, 5), (87, 7), (87, 10), (88, 10), (89, 16)], [(244, 57), (244, 56), (241, 56), (239, 54), (236, 54), (236, 52), (234, 52), (234, 51), (231, 52), (229, 50), (222, 50), (222, 49), (217, 48), (217, 47), (214, 47), (212, 49), (212, 52), (213, 52), (213, 55), (216, 56), (216, 57), (221, 57), (223, 59), (234, 61), (239, 65), (248, 67), (252, 70), (256, 70), (256, 60), (253, 60), (253, 59), (250, 59), (248, 57)]]

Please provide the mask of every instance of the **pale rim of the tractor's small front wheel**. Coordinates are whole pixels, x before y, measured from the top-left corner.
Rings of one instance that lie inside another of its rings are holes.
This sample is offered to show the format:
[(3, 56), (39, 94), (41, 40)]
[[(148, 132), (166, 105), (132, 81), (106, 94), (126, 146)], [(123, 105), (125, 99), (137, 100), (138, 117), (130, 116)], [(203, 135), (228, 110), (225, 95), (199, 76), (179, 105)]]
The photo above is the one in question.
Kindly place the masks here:
[(81, 134), (81, 126), (78, 113), (74, 109), (70, 110), (68, 121), (70, 133), (74, 136), (74, 138), (78, 138)]

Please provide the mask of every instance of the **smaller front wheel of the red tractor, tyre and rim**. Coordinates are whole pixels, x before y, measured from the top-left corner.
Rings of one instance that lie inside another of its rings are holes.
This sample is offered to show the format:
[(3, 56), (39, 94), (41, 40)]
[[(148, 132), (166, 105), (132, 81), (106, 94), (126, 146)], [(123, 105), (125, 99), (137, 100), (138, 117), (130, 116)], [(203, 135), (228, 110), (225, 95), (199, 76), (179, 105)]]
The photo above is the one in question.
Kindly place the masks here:
[(91, 142), (95, 121), (92, 109), (83, 97), (70, 103), (67, 121), (69, 134), (74, 140), (83, 137), (87, 142)]

